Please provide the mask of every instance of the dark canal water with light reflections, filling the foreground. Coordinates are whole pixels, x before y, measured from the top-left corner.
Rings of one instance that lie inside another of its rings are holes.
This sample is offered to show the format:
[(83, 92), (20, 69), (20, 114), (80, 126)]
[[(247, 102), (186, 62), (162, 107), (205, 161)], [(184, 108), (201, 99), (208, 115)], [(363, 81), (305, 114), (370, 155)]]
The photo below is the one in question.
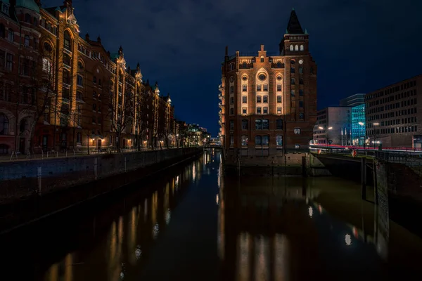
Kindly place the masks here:
[(221, 157), (0, 237), (0, 279), (421, 280), (421, 238), (359, 185), (239, 179)]

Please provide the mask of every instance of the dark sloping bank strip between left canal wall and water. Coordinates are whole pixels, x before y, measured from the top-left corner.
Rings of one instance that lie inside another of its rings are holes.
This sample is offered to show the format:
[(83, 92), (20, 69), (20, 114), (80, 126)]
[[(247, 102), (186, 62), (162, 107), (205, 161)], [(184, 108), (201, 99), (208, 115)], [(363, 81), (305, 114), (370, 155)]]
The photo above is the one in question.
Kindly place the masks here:
[[(155, 152), (155, 155), (159, 155), (159, 153)], [(87, 178), (82, 178), (82, 181), (70, 181), (67, 185), (62, 185), (59, 188), (43, 189), (41, 194), (34, 192), (32, 189), (30, 194), (25, 197), (14, 197), (13, 200), (0, 204), (0, 232), (32, 223), (39, 218), (51, 216), (77, 204), (89, 204), (91, 200), (99, 199), (103, 195), (114, 195), (117, 192), (122, 192), (123, 187), (130, 183), (160, 177), (167, 172), (167, 169), (192, 161), (202, 153), (203, 148), (184, 148), (183, 152), (176, 150), (172, 152), (174, 157), (167, 155), (169, 159), (166, 159), (166, 157), (155, 158), (160, 159), (159, 162), (148, 165), (144, 165), (144, 162), (138, 164), (133, 162), (132, 169), (127, 168), (126, 172), (115, 171), (110, 173), (110, 176), (101, 174), (96, 179), (89, 175)], [(139, 157), (139, 155), (134, 155), (134, 157)], [(63, 175), (63, 181), (66, 182), (65, 175)], [(28, 188), (31, 188), (31, 185)]]

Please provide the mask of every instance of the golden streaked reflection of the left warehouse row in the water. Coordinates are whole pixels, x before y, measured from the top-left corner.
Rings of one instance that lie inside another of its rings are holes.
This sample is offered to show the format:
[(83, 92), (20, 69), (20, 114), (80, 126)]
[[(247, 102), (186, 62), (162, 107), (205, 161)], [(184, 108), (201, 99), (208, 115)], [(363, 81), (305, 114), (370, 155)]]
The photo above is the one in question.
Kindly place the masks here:
[[(202, 161), (201, 159), (198, 162), (202, 164)], [(42, 279), (116, 281), (133, 279), (139, 275), (141, 265), (151, 254), (155, 240), (170, 223), (172, 209), (177, 206), (180, 193), (191, 184), (194, 176), (198, 181), (199, 173), (196, 171), (202, 171), (198, 162), (186, 166), (181, 174), (160, 183), (161, 189), (158, 188), (146, 197), (139, 195), (142, 196), (141, 200), (134, 199), (134, 204), (118, 202), (115, 211), (114, 207), (110, 207), (112, 209), (108, 209), (102, 218), (98, 218), (98, 221), (112, 219), (107, 232), (91, 232), (98, 233), (98, 237), (94, 237), (93, 249), (81, 249), (66, 254), (62, 261), (49, 266)], [(130, 206), (130, 209), (125, 211), (125, 206)], [(104, 225), (95, 227), (104, 228)], [(75, 255), (80, 262), (74, 261)]]

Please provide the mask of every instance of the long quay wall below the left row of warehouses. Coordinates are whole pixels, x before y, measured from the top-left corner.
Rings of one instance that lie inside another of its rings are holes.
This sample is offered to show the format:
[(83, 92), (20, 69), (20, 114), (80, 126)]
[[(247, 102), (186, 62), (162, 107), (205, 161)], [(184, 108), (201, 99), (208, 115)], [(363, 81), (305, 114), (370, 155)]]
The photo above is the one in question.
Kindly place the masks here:
[(89, 183), (98, 178), (123, 174), (124, 171), (136, 171), (144, 166), (153, 166), (173, 159), (177, 161), (202, 150), (203, 148), (178, 148), (4, 162), (0, 164), (0, 203), (11, 198), (33, 194), (38, 190), (37, 170), (39, 167), (41, 168), (41, 190), (47, 192)]

